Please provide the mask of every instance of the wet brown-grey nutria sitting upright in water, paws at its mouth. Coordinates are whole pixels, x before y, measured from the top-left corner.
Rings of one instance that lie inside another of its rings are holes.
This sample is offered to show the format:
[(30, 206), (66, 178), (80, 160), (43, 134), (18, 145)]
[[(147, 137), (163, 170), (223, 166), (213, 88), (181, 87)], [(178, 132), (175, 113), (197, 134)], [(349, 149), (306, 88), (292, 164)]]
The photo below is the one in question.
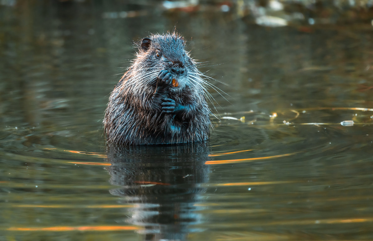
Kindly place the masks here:
[(110, 94), (104, 131), (109, 144), (203, 142), (210, 135), (205, 82), (176, 32), (143, 38)]

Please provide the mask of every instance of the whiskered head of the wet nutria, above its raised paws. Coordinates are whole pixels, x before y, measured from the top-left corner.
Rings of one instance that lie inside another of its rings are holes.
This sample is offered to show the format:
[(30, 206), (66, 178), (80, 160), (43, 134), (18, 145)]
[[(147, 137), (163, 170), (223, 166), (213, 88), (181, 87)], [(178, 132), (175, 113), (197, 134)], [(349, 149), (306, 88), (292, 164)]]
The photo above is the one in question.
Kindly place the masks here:
[[(185, 51), (184, 38), (177, 33), (151, 35), (143, 38), (138, 44), (137, 58), (134, 68), (141, 72), (145, 83), (156, 82), (157, 75), (162, 70), (168, 70), (173, 81), (172, 92), (180, 92), (185, 88), (201, 87), (203, 80), (195, 67), (194, 60)], [(142, 68), (142, 69), (140, 69)]]

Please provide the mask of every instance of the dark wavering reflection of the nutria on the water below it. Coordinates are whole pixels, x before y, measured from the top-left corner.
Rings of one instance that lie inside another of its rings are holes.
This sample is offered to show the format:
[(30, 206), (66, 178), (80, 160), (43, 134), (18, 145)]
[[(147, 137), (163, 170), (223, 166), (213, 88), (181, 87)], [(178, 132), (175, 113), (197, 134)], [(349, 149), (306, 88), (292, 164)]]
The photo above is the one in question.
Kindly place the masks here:
[(108, 148), (111, 194), (135, 204), (126, 222), (143, 226), (145, 240), (186, 240), (198, 232), (206, 190), (207, 144)]

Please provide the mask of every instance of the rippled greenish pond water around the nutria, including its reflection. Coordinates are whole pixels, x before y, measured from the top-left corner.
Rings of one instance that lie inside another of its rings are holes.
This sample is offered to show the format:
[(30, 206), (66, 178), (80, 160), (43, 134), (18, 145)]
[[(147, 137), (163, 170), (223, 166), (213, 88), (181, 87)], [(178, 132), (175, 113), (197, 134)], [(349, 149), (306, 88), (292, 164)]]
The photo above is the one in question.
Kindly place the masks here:
[[(0, 7), (0, 240), (372, 240), (370, 22), (154, 6)], [(210, 142), (107, 148), (132, 41), (175, 24), (228, 84)]]

